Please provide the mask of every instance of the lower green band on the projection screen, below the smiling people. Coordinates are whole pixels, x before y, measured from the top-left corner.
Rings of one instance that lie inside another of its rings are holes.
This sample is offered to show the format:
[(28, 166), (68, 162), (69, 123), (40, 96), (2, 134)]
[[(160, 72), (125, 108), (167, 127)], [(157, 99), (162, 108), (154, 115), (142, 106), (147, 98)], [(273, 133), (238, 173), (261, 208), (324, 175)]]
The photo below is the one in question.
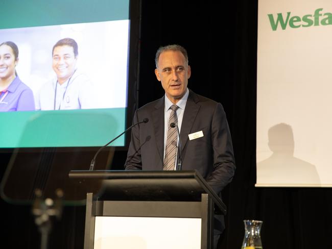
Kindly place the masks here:
[(0, 120), (3, 148), (101, 146), (125, 130), (126, 108), (3, 112)]

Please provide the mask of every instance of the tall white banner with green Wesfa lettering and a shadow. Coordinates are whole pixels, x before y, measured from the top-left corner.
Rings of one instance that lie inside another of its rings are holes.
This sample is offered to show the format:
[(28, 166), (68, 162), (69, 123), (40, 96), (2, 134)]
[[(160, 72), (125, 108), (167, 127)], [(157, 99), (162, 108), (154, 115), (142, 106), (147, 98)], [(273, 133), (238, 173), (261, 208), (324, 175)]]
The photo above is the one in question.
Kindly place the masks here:
[(332, 2), (258, 1), (257, 187), (332, 186)]

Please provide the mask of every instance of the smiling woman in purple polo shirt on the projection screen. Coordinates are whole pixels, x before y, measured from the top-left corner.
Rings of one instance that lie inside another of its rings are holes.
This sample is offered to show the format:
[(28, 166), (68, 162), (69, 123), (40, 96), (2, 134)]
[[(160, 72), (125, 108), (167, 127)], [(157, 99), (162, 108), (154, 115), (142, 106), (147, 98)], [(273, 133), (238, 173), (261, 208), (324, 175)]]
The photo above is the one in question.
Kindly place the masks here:
[(0, 44), (0, 112), (34, 111), (32, 90), (17, 76), (18, 47), (14, 42)]

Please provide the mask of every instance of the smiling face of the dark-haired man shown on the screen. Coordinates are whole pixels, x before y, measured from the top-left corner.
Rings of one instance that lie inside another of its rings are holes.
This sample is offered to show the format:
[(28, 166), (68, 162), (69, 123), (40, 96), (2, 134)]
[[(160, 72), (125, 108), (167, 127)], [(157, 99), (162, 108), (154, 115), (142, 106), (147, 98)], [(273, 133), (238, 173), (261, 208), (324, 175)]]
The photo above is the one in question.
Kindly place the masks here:
[(53, 51), (53, 70), (60, 84), (69, 79), (76, 69), (77, 58), (72, 46), (57, 46)]

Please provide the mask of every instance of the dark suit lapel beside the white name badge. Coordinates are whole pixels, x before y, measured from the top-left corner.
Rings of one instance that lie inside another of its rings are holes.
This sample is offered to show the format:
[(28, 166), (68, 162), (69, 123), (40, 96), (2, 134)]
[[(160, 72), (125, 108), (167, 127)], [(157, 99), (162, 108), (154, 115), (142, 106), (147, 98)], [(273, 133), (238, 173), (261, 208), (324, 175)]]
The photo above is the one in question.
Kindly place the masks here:
[(187, 99), (187, 103), (185, 104), (185, 109), (183, 113), (183, 119), (181, 124), (181, 143), (182, 143), (182, 151), (188, 141), (188, 135), (192, 130), (195, 118), (200, 109), (200, 105), (198, 104), (199, 98), (198, 96), (189, 90), (189, 95)]

